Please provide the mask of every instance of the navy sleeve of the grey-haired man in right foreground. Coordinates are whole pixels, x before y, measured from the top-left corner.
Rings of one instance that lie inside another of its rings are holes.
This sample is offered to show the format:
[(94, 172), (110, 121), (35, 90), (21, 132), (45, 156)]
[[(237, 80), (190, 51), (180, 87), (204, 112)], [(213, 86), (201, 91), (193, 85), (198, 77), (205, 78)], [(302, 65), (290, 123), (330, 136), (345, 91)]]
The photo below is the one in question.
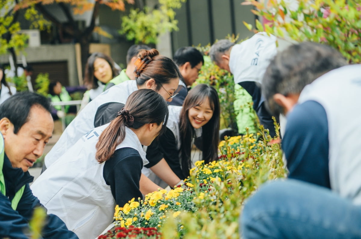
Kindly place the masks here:
[(282, 150), (289, 178), (330, 188), (327, 115), (319, 103), (306, 101), (287, 115)]

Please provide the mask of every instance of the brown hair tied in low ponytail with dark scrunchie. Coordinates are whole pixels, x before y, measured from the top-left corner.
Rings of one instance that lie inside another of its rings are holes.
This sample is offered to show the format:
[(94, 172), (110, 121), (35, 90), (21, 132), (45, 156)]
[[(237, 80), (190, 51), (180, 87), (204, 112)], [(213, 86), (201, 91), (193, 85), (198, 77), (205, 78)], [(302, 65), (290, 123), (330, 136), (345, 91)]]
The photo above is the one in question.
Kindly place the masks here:
[(144, 124), (163, 124), (160, 131), (166, 129), (168, 120), (168, 104), (163, 97), (150, 89), (140, 89), (131, 93), (125, 107), (117, 117), (100, 134), (96, 143), (95, 159), (99, 163), (110, 159), (116, 147), (125, 138), (125, 127), (139, 129)]

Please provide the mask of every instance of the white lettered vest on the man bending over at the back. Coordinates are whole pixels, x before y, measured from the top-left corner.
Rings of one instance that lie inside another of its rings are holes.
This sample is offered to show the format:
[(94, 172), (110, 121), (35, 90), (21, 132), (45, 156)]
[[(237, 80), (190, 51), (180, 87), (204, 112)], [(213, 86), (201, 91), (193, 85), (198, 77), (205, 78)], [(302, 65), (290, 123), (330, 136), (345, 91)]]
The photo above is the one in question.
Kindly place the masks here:
[(243, 81), (262, 83), (266, 68), (277, 53), (276, 40), (273, 35), (258, 32), (232, 47), (229, 67), (236, 84)]

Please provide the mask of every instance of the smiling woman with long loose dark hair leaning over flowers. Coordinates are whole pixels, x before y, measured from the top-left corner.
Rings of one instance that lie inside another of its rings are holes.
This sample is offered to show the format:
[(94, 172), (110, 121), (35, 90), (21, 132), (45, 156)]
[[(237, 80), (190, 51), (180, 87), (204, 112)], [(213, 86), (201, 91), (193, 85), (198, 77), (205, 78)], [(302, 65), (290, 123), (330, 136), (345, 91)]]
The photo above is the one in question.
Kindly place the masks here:
[[(159, 138), (158, 146), (148, 147), (147, 159), (164, 158), (169, 167), (181, 179), (190, 175), (193, 167), (191, 149), (198, 138), (197, 147), (202, 152), (201, 160), (209, 163), (217, 159), (219, 143), (219, 99), (216, 89), (206, 84), (192, 88), (184, 99), (183, 106), (169, 106), (166, 132)], [(149, 152), (152, 152), (149, 155)], [(149, 176), (152, 178), (154, 176)], [(160, 186), (159, 178), (154, 180)]]

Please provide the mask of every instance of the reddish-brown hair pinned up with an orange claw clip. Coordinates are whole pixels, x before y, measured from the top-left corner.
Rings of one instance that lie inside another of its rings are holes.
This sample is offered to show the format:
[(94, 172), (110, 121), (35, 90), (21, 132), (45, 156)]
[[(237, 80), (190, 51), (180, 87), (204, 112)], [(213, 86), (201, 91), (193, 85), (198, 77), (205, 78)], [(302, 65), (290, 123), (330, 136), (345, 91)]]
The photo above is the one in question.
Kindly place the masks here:
[(157, 84), (156, 90), (159, 90), (161, 85), (169, 83), (170, 80), (178, 79), (181, 75), (174, 61), (160, 56), (156, 49), (140, 51), (134, 64), (137, 85), (143, 85), (145, 81), (153, 78)]

